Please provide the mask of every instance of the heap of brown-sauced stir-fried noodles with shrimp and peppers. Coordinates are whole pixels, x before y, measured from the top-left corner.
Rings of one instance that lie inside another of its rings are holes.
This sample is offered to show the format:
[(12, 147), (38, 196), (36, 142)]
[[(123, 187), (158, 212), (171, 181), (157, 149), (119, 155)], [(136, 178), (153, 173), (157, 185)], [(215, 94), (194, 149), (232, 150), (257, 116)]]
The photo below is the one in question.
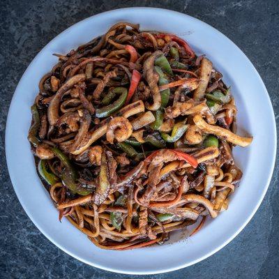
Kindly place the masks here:
[(99, 248), (162, 244), (216, 218), (241, 180), (236, 105), (222, 74), (174, 34), (120, 22), (39, 83), (29, 130), (40, 179)]

